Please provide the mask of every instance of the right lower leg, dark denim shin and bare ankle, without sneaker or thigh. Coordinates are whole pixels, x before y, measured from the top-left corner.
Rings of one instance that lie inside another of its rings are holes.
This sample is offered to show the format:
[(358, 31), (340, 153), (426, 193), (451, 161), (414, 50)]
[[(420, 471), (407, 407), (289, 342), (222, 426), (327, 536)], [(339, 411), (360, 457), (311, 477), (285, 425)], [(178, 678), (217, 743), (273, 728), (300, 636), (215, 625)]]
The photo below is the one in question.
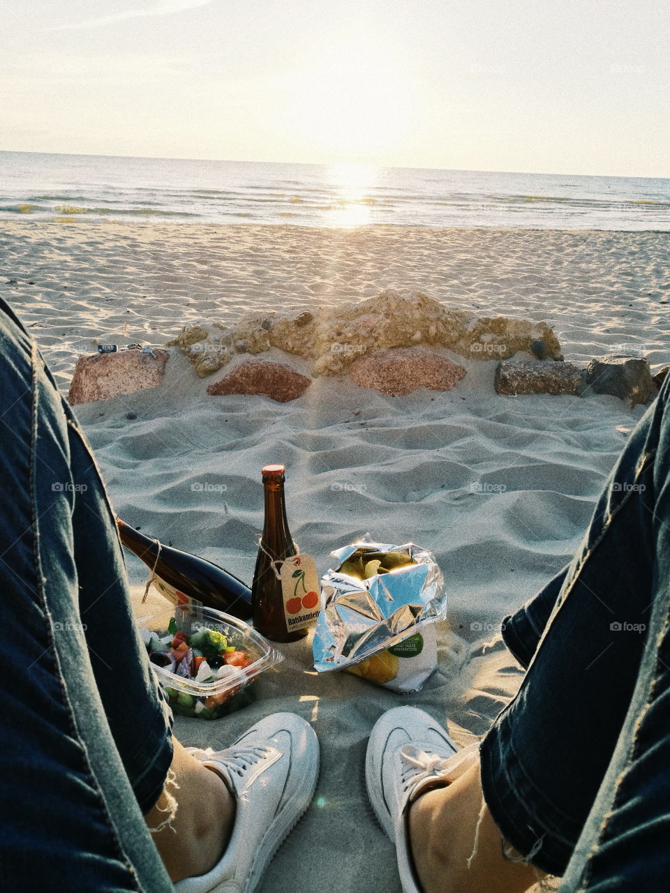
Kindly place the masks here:
[(649, 607), (666, 585), (668, 393), (666, 382), (633, 432), (573, 562), (543, 590), (534, 616), (531, 604), (512, 619), (508, 644), (529, 668), (482, 742), (481, 768), (406, 806), (415, 889), (525, 889), (533, 877), (519, 874), (516, 858), (565, 870), (631, 703)]

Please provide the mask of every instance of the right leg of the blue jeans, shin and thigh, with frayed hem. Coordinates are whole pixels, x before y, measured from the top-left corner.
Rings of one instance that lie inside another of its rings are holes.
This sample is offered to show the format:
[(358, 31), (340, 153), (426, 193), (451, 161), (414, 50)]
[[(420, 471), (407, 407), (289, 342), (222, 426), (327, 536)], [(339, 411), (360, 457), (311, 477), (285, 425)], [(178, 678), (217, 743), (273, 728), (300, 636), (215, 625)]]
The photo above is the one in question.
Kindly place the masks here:
[(482, 741), (503, 836), (561, 890), (670, 889), (670, 377), (573, 561), (503, 622), (526, 667)]

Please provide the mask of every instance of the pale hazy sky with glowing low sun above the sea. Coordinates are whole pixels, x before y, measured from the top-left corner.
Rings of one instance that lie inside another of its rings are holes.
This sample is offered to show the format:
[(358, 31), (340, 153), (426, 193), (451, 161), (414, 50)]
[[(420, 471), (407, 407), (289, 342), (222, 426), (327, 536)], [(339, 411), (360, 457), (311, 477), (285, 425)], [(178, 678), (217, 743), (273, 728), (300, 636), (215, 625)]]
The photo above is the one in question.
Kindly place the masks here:
[(670, 177), (667, 0), (3, 0), (0, 149)]

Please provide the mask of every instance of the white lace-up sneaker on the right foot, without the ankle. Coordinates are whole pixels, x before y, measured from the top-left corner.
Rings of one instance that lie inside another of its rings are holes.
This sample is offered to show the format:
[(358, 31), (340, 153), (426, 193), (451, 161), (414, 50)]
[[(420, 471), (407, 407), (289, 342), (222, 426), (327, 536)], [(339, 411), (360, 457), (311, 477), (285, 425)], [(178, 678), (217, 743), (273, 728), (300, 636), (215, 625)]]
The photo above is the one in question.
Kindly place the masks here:
[[(468, 756), (472, 749), (467, 748)], [(416, 707), (389, 710), (370, 735), (365, 756), (367, 793), (381, 827), (396, 845), (404, 893), (421, 893), (407, 846), (407, 807), (424, 789), (443, 780), (447, 768), (453, 770), (460, 763), (450, 759), (456, 752), (447, 732)]]

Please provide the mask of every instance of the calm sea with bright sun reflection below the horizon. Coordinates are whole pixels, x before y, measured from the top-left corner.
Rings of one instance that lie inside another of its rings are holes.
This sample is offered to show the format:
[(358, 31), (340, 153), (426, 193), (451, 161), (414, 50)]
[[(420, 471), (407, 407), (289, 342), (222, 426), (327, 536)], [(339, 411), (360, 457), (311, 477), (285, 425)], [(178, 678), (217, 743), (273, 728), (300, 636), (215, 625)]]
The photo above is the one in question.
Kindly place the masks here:
[(0, 152), (0, 220), (670, 230), (670, 179)]

